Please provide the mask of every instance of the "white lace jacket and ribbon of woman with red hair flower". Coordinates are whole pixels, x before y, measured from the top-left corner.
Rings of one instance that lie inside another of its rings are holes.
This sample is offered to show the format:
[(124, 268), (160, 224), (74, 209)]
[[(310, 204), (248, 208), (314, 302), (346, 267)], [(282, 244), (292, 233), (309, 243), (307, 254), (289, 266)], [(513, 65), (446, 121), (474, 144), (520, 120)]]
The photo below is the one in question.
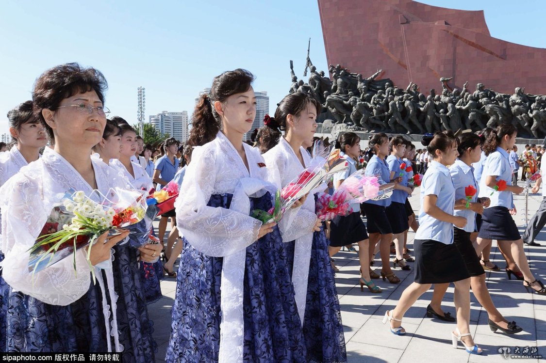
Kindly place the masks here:
[[(311, 155), (303, 147), (300, 147), (300, 152), (305, 167), (309, 167)], [(288, 185), (299, 173), (304, 171), (304, 166), (301, 165), (298, 156), (284, 137), (281, 137), (277, 146), (263, 156), (268, 167), (269, 179), (274, 181), (278, 189)], [(279, 224), (283, 241), (295, 240), (292, 283), (301, 323), (304, 322), (313, 227), (316, 220), (314, 196), (313, 193), (309, 193), (297, 214), (285, 215)]]

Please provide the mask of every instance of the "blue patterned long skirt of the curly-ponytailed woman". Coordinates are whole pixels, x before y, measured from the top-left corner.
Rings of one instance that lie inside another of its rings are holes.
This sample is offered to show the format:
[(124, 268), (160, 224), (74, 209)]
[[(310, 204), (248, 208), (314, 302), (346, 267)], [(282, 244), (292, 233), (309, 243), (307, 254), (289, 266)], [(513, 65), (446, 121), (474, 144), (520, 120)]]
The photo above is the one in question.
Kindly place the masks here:
[[(229, 208), (232, 195), (213, 195), (211, 207)], [(269, 193), (252, 208), (271, 208)], [(218, 361), (222, 258), (203, 255), (183, 239), (167, 362)], [(244, 360), (306, 362), (301, 322), (278, 228), (246, 249)]]

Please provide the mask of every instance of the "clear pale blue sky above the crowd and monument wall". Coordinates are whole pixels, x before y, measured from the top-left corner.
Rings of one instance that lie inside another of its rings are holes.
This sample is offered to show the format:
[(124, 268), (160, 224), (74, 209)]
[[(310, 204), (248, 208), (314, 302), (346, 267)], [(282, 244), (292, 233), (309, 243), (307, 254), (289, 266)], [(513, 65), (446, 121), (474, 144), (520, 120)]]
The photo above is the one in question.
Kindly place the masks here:
[[(493, 37), (546, 47), (543, 0), (421, 2), (483, 9)], [(308, 38), (313, 64), (327, 71), (316, 0), (2, 0), (0, 134), (8, 129), (5, 114), (31, 99), (35, 78), (67, 62), (102, 71), (111, 116), (130, 123), (137, 87), (146, 87), (146, 120), (161, 111), (191, 114), (195, 96), (214, 76), (239, 67), (256, 75), (254, 89), (268, 91), (274, 112), (290, 86), (290, 59), (302, 77)]]

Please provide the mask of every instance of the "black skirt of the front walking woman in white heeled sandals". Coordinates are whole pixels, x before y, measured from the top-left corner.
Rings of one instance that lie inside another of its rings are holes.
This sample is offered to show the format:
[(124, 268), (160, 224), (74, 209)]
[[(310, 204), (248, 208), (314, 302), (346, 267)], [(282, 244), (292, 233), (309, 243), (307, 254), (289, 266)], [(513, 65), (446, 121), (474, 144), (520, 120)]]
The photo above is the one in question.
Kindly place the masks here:
[(465, 261), (454, 244), (431, 239), (413, 241), (415, 282), (447, 283), (468, 279)]

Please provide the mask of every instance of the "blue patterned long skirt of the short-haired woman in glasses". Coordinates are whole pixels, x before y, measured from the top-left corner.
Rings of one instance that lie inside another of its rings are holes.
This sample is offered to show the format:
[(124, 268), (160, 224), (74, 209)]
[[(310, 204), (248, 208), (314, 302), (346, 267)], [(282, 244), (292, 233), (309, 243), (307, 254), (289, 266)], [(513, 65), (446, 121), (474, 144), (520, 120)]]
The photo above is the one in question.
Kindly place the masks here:
[[(146, 310), (136, 251), (129, 246), (116, 246), (115, 250), (114, 285), (123, 362), (153, 362), (157, 346), (152, 338), (153, 323)], [(104, 274), (103, 279), (106, 280)], [(2, 352), (106, 352), (98, 283), (91, 282), (89, 291), (67, 306), (49, 305), (13, 292), (3, 279), (0, 297)]]

